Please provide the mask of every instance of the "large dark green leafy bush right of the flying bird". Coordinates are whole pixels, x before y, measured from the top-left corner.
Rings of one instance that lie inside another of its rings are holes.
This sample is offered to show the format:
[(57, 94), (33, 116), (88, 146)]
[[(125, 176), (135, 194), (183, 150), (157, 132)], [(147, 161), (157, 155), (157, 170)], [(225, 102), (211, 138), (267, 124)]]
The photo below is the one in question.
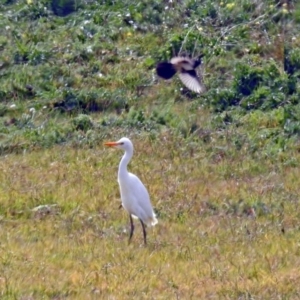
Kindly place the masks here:
[(295, 77), (280, 73), (273, 61), (266, 61), (257, 66), (238, 63), (228, 89), (209, 91), (206, 97), (215, 111), (223, 111), (230, 106), (240, 105), (246, 110), (271, 110), (278, 106), (298, 103), (297, 97), (289, 98), (297, 92)]

